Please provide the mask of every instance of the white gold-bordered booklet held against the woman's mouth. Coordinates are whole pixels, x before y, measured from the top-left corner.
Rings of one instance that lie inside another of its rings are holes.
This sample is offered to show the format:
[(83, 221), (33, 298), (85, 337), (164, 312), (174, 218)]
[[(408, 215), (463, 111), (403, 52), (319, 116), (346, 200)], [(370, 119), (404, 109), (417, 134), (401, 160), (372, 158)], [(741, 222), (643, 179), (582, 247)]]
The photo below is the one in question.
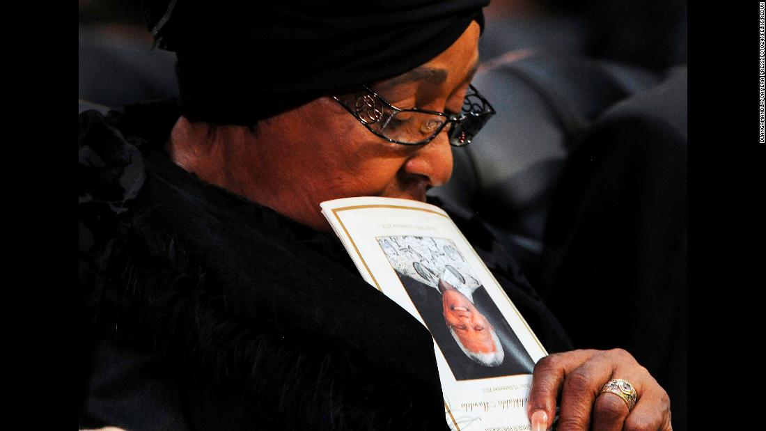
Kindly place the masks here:
[(362, 277), (434, 336), (450, 429), (531, 429), (532, 368), (547, 352), (447, 213), (392, 198), (321, 206)]

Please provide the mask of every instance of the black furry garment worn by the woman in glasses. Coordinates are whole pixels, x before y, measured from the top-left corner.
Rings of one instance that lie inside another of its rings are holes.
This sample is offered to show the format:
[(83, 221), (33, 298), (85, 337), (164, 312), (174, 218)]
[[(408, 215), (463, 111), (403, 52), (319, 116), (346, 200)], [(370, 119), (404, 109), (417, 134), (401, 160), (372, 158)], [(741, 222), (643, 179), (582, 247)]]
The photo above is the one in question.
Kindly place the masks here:
[[(172, 163), (177, 118), (80, 115), (80, 426), (446, 429), (426, 328), (336, 238)], [(548, 350), (571, 348), (486, 229), (457, 221)]]

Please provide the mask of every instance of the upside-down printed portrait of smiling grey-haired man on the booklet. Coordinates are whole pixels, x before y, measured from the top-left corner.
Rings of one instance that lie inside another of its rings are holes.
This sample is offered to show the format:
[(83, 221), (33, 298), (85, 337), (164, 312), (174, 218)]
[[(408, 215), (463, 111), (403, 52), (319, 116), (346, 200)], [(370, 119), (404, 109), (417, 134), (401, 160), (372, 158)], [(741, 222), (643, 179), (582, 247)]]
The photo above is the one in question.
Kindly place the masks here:
[(453, 241), (376, 239), (455, 380), (532, 373), (534, 361)]

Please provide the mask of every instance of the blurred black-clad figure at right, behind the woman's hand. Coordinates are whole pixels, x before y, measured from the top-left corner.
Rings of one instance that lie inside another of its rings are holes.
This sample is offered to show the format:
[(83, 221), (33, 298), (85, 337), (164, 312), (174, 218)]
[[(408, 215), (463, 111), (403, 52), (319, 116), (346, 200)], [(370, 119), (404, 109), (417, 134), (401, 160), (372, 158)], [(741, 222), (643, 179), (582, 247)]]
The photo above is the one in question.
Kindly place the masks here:
[(561, 171), (538, 285), (575, 345), (619, 346), (650, 369), (677, 430), (687, 423), (686, 113), (680, 67), (597, 119)]

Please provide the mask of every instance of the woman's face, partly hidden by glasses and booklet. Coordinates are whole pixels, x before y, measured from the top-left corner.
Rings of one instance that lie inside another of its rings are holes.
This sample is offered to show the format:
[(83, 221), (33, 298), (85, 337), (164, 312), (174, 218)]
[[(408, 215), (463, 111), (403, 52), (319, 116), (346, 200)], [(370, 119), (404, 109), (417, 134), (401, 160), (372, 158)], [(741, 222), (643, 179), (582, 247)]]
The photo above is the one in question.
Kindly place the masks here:
[[(479, 34), (474, 21), (439, 56), (372, 89), (401, 109), (459, 113), (476, 71)], [(257, 201), (320, 230), (329, 230), (322, 201), (355, 196), (424, 201), (428, 188), (452, 174), (446, 130), (425, 145), (387, 142), (331, 97), (260, 122), (254, 141), (251, 165), (269, 183)]]

